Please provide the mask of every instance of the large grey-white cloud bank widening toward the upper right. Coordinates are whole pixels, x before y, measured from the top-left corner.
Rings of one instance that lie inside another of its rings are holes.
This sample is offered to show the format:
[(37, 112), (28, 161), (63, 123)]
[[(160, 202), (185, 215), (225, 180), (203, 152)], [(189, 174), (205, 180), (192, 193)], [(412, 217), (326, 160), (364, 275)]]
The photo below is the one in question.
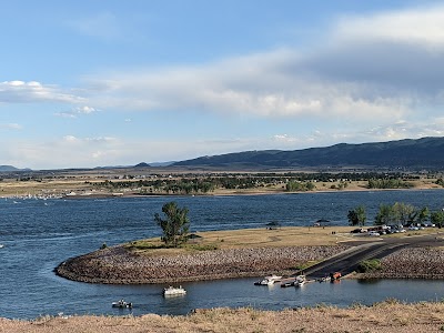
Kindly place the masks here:
[(395, 123), (444, 101), (444, 7), (340, 18), (310, 51), (91, 79), (103, 108)]

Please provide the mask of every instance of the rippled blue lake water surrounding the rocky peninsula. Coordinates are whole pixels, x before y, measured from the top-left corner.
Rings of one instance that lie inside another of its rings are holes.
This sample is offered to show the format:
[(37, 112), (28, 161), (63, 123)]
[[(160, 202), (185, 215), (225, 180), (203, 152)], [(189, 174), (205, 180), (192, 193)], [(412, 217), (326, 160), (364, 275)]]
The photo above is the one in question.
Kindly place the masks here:
[(110, 304), (124, 297), (132, 313), (184, 314), (195, 307), (283, 309), (319, 303), (346, 306), (387, 297), (406, 302), (444, 299), (438, 281), (379, 281), (307, 284), (301, 290), (261, 287), (256, 279), (183, 283), (184, 297), (163, 299), (163, 285), (99, 285), (58, 278), (52, 270), (68, 258), (134, 239), (158, 236), (155, 212), (174, 200), (190, 209), (192, 231), (309, 225), (327, 219), (345, 225), (350, 209), (364, 204), (372, 221), (381, 203), (444, 208), (444, 190), (335, 192), (248, 196), (174, 196), (110, 200), (0, 200), (0, 316), (43, 314), (125, 314)]

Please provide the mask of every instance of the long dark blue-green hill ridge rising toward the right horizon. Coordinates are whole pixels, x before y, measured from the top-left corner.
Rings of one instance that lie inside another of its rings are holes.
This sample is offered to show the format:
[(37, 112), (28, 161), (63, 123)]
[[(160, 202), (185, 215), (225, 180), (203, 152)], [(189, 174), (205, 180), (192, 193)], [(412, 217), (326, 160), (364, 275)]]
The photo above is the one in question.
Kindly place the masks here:
[(444, 169), (444, 138), (347, 144), (293, 151), (262, 150), (201, 157), (175, 167)]

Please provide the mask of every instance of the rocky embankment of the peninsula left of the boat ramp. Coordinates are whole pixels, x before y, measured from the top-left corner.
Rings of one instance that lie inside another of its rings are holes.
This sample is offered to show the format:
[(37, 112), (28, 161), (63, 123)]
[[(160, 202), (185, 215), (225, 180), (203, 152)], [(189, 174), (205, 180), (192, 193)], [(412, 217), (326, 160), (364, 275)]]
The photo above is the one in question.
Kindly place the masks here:
[(67, 260), (54, 271), (74, 281), (112, 284), (246, 278), (294, 273), (299, 265), (322, 261), (346, 249), (346, 245), (229, 249), (148, 256), (118, 245)]

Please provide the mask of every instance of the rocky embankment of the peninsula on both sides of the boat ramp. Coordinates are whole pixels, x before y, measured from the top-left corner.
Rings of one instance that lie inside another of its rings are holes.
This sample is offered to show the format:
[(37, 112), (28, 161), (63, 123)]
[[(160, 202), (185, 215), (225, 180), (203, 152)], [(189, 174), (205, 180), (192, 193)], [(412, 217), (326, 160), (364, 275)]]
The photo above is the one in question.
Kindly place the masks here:
[[(99, 250), (61, 263), (54, 272), (69, 280), (107, 284), (176, 283), (270, 273), (291, 274), (300, 265), (327, 259), (346, 245), (286, 246), (141, 255), (124, 245)], [(444, 250), (403, 249), (381, 260), (382, 269), (356, 279), (443, 279)]]

